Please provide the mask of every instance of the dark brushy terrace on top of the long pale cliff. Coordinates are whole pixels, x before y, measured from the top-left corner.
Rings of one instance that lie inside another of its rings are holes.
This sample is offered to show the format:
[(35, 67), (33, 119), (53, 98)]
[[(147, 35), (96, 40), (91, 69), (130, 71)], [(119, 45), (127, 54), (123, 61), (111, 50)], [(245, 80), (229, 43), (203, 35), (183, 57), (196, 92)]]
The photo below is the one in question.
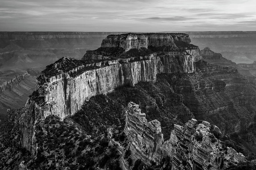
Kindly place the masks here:
[(46, 66), (41, 72), (41, 75), (37, 77), (37, 80), (42, 85), (45, 82), (51, 82), (52, 77), (68, 73), (71, 77), (75, 78), (82, 73), (102, 67), (107, 67), (119, 63), (132, 63), (135, 61), (149, 60), (150, 56), (154, 55), (154, 52), (146, 48), (131, 49), (127, 52), (123, 48), (98, 48), (95, 50), (98, 54), (104, 54), (109, 56), (105, 59), (74, 59), (69, 57), (63, 57)]

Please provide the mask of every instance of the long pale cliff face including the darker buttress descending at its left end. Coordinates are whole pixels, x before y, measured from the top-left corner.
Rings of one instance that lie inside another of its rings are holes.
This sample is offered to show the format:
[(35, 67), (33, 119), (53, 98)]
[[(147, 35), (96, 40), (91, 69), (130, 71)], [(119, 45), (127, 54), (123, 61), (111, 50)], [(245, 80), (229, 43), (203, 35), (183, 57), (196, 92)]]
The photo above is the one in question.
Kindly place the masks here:
[[(123, 85), (134, 86), (141, 81), (155, 82), (156, 56), (152, 54), (148, 57), (148, 60), (122, 64), (118, 61), (108, 61), (109, 66), (84, 71), (76, 77), (73, 77), (75, 71), (70, 71), (48, 78), (44, 85), (38, 86), (36, 97), (28, 97), (27, 112), (21, 117), (22, 146), (31, 150), (36, 119), (44, 119), (51, 114), (65, 118), (77, 112), (83, 102), (92, 96), (107, 94)], [(62, 62), (69, 61), (69, 58), (63, 60)], [(38, 97), (42, 98), (43, 103), (35, 100)]]

